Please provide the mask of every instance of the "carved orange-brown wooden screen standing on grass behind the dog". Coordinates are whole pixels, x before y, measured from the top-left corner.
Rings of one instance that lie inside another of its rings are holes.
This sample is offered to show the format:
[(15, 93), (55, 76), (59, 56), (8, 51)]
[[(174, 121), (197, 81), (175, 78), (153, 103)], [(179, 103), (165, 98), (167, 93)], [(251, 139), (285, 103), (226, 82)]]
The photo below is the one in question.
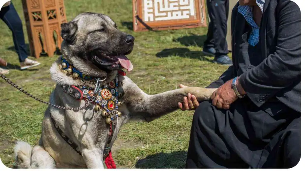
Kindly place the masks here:
[(22, 0), (31, 56), (59, 53), (60, 24), (66, 22), (63, 0)]

